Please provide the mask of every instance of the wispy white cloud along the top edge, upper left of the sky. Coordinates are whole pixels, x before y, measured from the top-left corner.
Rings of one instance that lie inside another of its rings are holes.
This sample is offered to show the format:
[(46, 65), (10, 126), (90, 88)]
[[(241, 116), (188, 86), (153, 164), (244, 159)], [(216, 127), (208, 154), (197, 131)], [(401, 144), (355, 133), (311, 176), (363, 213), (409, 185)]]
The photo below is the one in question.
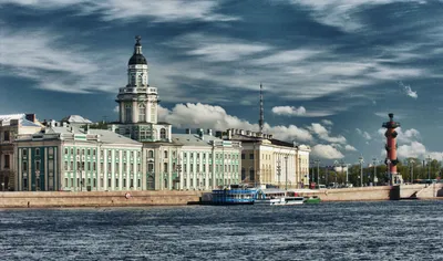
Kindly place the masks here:
[(37, 9), (76, 7), (84, 14), (100, 13), (105, 21), (131, 21), (134, 18), (153, 18), (154, 22), (238, 20), (237, 17), (216, 13), (219, 2), (208, 0), (0, 0), (0, 3), (16, 3)]

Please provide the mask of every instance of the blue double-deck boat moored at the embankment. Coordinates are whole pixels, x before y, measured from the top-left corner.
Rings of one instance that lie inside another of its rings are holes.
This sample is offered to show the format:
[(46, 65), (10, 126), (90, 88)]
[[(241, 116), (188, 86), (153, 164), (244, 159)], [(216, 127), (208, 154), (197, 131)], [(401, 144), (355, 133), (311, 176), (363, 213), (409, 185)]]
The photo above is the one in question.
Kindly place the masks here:
[(224, 189), (214, 189), (210, 205), (253, 205), (257, 190), (231, 185)]

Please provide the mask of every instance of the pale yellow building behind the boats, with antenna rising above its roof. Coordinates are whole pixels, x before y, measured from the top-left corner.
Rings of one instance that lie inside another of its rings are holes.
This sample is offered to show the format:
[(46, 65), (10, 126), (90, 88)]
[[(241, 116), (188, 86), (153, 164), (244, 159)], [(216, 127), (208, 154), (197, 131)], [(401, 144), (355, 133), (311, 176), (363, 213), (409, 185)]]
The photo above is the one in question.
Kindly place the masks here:
[(272, 135), (227, 129), (225, 139), (241, 142), (241, 180), (251, 186), (301, 188), (309, 185), (307, 145), (275, 139)]

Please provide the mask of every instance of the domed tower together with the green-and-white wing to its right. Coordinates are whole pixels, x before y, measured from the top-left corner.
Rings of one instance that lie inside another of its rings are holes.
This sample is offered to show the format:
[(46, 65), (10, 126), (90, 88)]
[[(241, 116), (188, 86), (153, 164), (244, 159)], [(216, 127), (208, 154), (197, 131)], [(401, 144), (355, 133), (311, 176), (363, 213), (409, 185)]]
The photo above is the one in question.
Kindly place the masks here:
[(240, 143), (203, 130), (173, 135), (171, 124), (157, 121), (158, 93), (148, 83), (140, 36), (127, 63), (127, 84), (119, 90), (116, 102), (119, 122), (109, 129), (143, 143), (147, 189), (212, 189), (238, 181)]

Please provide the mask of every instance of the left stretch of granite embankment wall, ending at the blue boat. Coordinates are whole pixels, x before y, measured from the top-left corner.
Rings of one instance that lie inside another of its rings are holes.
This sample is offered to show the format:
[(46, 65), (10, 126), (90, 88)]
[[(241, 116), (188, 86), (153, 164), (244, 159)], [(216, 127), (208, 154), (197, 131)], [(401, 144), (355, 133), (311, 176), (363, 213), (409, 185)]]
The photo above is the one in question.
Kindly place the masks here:
[(200, 191), (0, 192), (0, 208), (178, 206), (200, 196)]

